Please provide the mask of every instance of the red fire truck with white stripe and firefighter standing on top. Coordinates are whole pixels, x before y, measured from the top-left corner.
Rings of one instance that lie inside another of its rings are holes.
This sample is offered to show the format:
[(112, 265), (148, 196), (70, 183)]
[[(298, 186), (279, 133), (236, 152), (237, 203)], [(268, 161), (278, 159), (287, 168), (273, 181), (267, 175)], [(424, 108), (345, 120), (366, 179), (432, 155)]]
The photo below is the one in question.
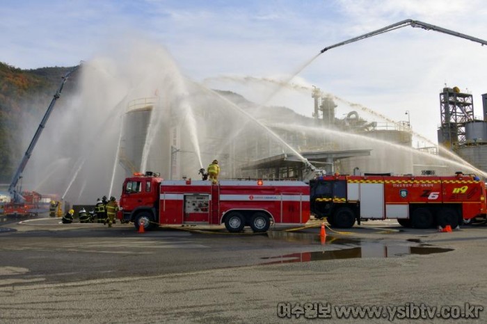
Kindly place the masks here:
[(302, 225), (310, 218), (310, 186), (302, 181), (163, 180), (155, 172), (125, 179), (120, 220), (150, 229), (163, 225), (221, 225), (229, 232), (250, 226)]

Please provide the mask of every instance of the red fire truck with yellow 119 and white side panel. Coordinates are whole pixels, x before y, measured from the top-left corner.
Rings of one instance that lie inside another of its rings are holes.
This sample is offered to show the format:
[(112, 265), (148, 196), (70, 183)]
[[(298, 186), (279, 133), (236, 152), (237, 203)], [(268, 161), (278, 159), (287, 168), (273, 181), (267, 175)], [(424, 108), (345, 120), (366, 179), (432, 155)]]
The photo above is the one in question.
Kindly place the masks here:
[(456, 227), (486, 217), (486, 186), (474, 175), (452, 177), (330, 175), (310, 181), (310, 209), (330, 225), (395, 218), (405, 227)]

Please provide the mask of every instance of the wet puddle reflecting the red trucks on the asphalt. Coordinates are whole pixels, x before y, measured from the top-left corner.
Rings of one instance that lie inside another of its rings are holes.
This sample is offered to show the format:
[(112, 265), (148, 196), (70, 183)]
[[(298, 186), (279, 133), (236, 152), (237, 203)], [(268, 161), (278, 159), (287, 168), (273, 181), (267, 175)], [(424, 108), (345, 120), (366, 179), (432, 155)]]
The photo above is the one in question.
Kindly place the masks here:
[[(321, 260), (336, 259), (361, 259), (361, 258), (394, 258), (404, 257), (410, 254), (434, 254), (453, 251), (453, 249), (436, 248), (420, 244), (418, 246), (407, 245), (406, 242), (382, 242), (382, 241), (364, 241), (350, 238), (339, 238), (335, 236), (326, 236), (325, 241), (321, 241), (320, 236), (316, 234), (305, 233), (287, 233), (271, 234), (269, 237), (282, 238), (285, 241), (295, 241), (303, 243), (321, 243), (324, 245), (335, 245), (340, 247), (338, 250), (325, 250), (317, 252), (298, 252), (280, 255), (277, 257), (263, 257), (266, 260), (264, 264), (287, 264), (293, 262), (310, 262)], [(410, 243), (422, 243), (420, 240), (410, 239)], [(350, 246), (350, 248), (346, 248)]]

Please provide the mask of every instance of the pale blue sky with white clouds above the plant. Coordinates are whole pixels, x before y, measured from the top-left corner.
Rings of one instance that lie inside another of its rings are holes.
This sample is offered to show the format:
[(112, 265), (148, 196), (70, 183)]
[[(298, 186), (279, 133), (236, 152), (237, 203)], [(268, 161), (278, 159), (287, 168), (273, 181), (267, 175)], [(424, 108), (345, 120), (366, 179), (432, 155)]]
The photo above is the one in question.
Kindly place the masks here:
[[(480, 0), (3, 0), (0, 17), (0, 61), (15, 67), (77, 65), (110, 51), (113, 41), (137, 37), (166, 47), (195, 81), (287, 79), (320, 49), (408, 18), (487, 39), (487, 6)], [(475, 115), (482, 115), (486, 57), (480, 44), (408, 26), (332, 49), (293, 81), (393, 120), (407, 120), (410, 111), (413, 129), (436, 140), (445, 84), (472, 92)], [(280, 94), (273, 104), (310, 115), (311, 100)]]

